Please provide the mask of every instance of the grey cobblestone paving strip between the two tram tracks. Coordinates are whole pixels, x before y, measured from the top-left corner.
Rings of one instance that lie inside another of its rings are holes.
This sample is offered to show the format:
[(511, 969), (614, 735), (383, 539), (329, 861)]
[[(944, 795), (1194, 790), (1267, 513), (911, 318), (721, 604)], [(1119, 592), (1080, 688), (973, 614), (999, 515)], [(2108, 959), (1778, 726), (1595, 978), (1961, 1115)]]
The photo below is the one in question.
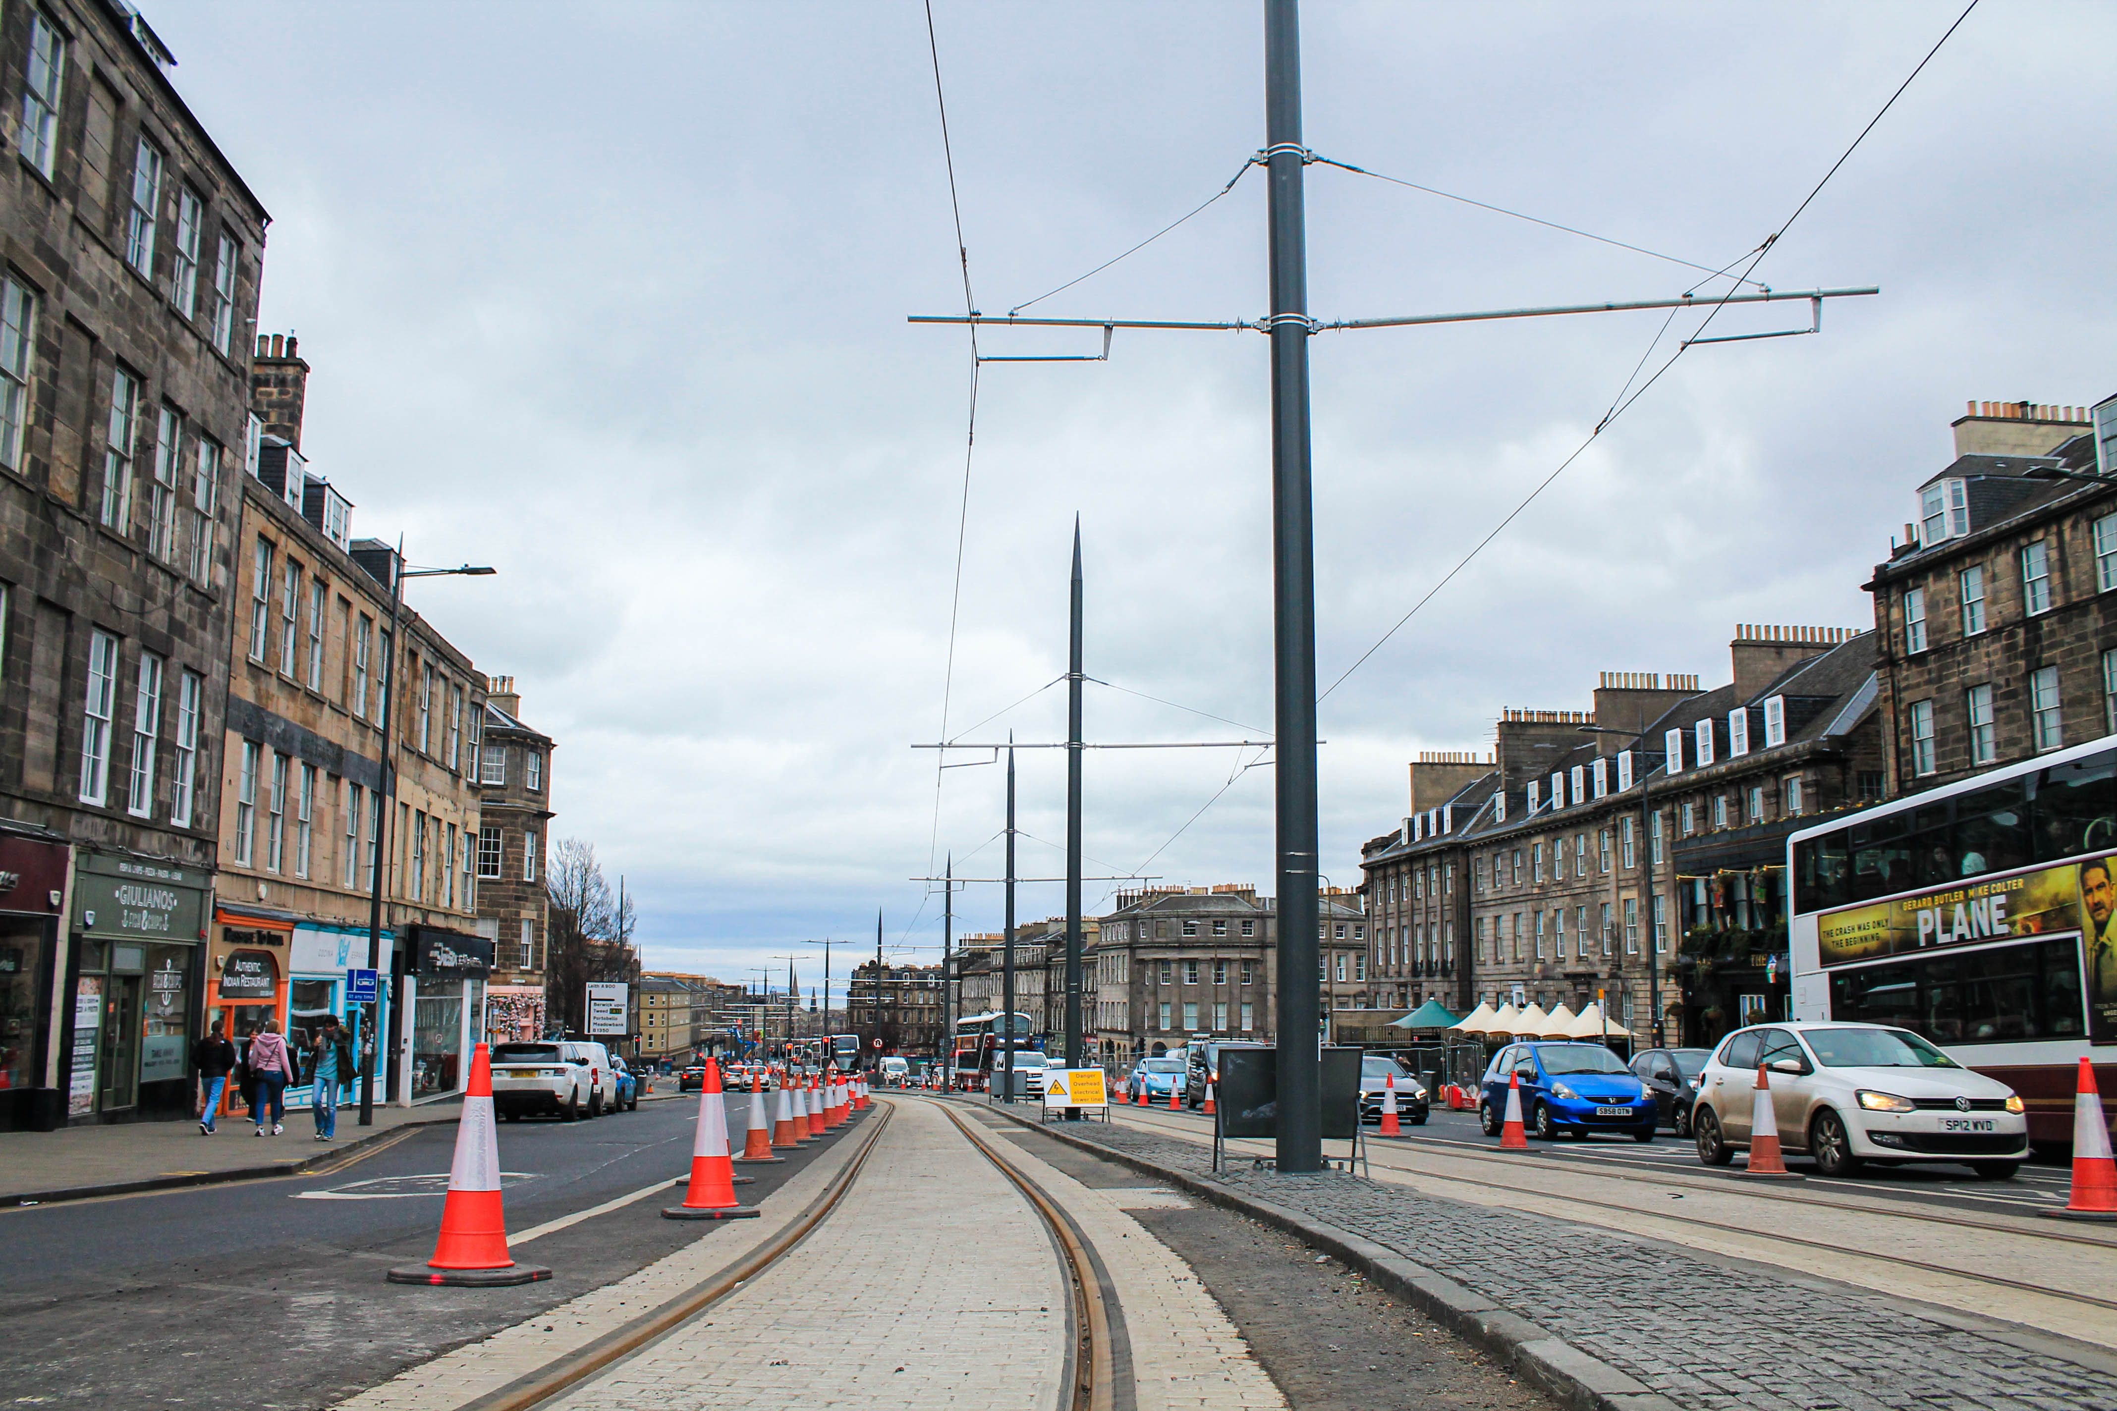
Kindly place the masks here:
[[(1075, 1134), (1190, 1174), (1207, 1151)], [(1607, 1229), (1353, 1176), (1219, 1176), (1416, 1261), (1698, 1411), (2111, 1411), (2117, 1377), (1920, 1318), (1882, 1297), (1736, 1269)]]

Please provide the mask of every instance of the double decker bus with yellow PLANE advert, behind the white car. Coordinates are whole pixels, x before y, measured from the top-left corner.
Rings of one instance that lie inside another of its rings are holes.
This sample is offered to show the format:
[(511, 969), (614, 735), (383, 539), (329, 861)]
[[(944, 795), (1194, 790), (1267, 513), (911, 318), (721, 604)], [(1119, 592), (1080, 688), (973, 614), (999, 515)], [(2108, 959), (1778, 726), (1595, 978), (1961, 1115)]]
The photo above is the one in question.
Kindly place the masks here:
[(1787, 840), (1795, 1020), (1924, 1034), (2073, 1140), (2079, 1060), (2117, 1092), (2117, 738)]

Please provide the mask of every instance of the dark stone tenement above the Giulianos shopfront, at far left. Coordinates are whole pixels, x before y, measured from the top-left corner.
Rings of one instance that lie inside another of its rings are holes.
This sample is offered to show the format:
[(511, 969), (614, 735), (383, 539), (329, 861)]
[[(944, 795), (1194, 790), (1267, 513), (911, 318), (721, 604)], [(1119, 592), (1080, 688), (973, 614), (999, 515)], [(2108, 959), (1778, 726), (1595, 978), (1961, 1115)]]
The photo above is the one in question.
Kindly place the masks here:
[(269, 218), (171, 66), (0, 8), (0, 1128), (191, 1113)]

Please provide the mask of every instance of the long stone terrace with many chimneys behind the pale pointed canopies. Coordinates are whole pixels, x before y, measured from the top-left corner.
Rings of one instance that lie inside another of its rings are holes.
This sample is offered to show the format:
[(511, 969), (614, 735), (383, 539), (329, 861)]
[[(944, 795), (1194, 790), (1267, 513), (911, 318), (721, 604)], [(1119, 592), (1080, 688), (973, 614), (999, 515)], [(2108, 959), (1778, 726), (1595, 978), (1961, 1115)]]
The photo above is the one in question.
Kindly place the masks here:
[(1603, 673), (1592, 711), (1505, 711), (1490, 757), (1421, 757), (1414, 814), (1361, 850), (1353, 1003), (1603, 996), (1643, 1043), (1655, 998), (1670, 1043), (1780, 1013), (1785, 838), (1880, 798), (1874, 635), (1744, 626), (1730, 658), (1719, 690)]

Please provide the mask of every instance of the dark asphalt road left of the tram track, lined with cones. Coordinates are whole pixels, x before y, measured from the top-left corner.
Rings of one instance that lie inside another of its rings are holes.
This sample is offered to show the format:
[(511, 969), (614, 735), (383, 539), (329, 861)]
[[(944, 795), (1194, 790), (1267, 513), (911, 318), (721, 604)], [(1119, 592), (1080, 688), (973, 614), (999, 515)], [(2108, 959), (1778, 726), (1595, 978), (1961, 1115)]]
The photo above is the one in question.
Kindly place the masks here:
[[(747, 1096), (728, 1096), (741, 1142)], [(595, 1121), (504, 1121), (508, 1231), (521, 1235), (690, 1170), (694, 1098), (648, 1100)], [(222, 1134), (220, 1142), (252, 1142)], [(277, 1144), (307, 1144), (288, 1123)], [(834, 1138), (836, 1140), (836, 1138)], [(258, 1142), (260, 1147), (265, 1142)], [(720, 1225), (665, 1221), (646, 1193), (531, 1240), (517, 1259), (553, 1269), (519, 1288), (385, 1284), (426, 1263), (440, 1227), (455, 1125), (402, 1140), (328, 1176), (0, 1212), (0, 1403), (30, 1407), (328, 1407), (438, 1352), (620, 1280)], [(800, 1172), (741, 1168), (747, 1202)]]

